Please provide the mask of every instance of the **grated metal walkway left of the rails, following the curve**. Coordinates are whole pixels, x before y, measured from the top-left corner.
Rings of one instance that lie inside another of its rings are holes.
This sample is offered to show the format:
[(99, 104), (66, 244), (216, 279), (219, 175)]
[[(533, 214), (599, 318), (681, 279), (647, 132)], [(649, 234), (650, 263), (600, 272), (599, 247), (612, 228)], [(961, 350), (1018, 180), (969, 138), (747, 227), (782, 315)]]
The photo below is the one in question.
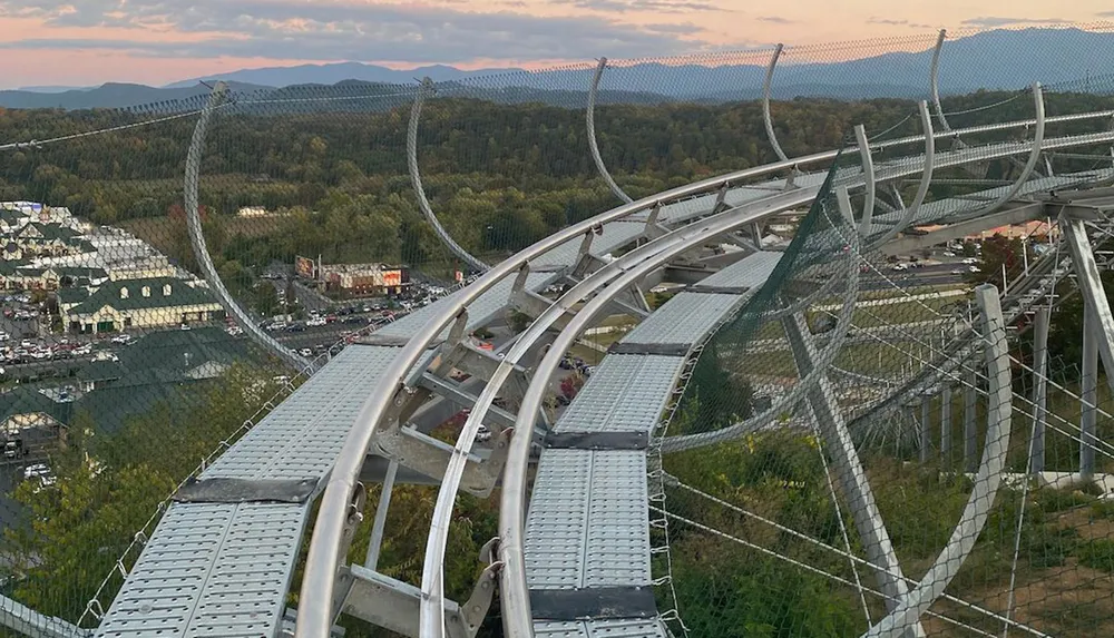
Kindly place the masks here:
[[(595, 254), (629, 244), (644, 224), (604, 226)], [(573, 265), (574, 238), (539, 264)], [(534, 273), (537, 289), (556, 278)], [(469, 324), (494, 317), (509, 298), (514, 277), (469, 307)], [(460, 294), (460, 293), (456, 293)], [(381, 335), (408, 337), (452, 296), (384, 326)], [(205, 472), (203, 479), (310, 480), (323, 485), (365, 394), (399, 347), (353, 344), (277, 405)], [(144, 548), (96, 631), (98, 637), (174, 638), (276, 636), (310, 503), (174, 503)]]

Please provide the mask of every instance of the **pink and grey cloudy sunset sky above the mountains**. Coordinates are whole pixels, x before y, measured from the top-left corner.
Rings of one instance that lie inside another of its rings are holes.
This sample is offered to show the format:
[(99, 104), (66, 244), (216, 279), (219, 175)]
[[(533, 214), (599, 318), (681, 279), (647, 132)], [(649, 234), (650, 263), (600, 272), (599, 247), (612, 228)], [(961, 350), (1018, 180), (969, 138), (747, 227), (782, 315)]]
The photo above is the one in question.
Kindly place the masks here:
[[(0, 87), (160, 86), (242, 68), (362, 61), (536, 67), (607, 56), (1114, 21), (1111, 0), (0, 0)], [(876, 47), (877, 48), (877, 47)], [(861, 48), (840, 55), (862, 57)]]

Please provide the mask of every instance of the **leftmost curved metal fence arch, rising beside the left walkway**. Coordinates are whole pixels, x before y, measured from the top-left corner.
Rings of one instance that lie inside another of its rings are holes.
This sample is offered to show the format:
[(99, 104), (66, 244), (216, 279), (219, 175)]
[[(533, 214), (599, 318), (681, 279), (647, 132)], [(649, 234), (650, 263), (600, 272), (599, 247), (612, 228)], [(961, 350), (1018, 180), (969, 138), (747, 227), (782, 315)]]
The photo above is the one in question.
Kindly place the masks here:
[(183, 195), (186, 203), (186, 228), (189, 232), (189, 245), (194, 249), (194, 257), (197, 258), (197, 263), (202, 267), (202, 273), (205, 275), (205, 281), (216, 295), (217, 302), (226, 313), (236, 318), (236, 323), (244, 328), (244, 332), (247, 333), (248, 337), (294, 369), (300, 371), (310, 370), (312, 372), (316, 369), (313, 362), (284, 346), (273, 336), (263, 332), (263, 330), (255, 325), (255, 322), (247, 316), (244, 308), (240, 307), (236, 300), (232, 298), (232, 295), (228, 294), (228, 288), (224, 286), (224, 282), (221, 281), (221, 275), (216, 272), (216, 266), (213, 265), (213, 259), (208, 254), (208, 247), (205, 244), (205, 234), (202, 232), (201, 213), (198, 212), (197, 206), (197, 183), (201, 175), (202, 153), (204, 153), (205, 149), (205, 136), (208, 131), (208, 122), (213, 116), (213, 110), (217, 108), (221, 100), (224, 99), (227, 90), (228, 86), (224, 82), (217, 82), (216, 86), (213, 87), (213, 92), (209, 95), (208, 104), (206, 104), (205, 108), (202, 109), (201, 116), (197, 118), (197, 125), (194, 126), (194, 136), (189, 140), (189, 150), (186, 154), (186, 178)]

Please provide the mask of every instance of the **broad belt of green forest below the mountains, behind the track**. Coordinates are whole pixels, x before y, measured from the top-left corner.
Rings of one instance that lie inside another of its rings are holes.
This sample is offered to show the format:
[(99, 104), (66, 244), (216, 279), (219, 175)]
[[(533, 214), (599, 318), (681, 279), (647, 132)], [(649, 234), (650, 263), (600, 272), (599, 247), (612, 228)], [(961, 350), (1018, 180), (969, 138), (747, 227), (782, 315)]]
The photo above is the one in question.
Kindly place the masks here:
[[(1102, 101), (1054, 95), (1048, 110), (1072, 112)], [(1033, 105), (1026, 94), (984, 92), (952, 99), (946, 109), (962, 114), (951, 118), (952, 127), (961, 127), (1030, 117)], [(605, 161), (634, 197), (775, 159), (759, 102), (597, 110)], [(915, 110), (900, 100), (800, 99), (776, 102), (773, 117), (785, 153), (799, 156), (839, 146), (854, 124), (871, 136), (915, 134)], [(202, 203), (214, 213), (211, 249), (244, 266), (304, 253), (326, 262), (401, 262), (443, 271), (450, 264), (417, 214), (405, 173), (409, 115), (408, 104), (359, 114), (218, 111), (202, 170)], [(7, 110), (0, 112), (0, 140), (52, 139), (152, 117)], [(194, 121), (180, 117), (6, 151), (0, 198), (68, 206), (101, 224), (165, 220), (182, 202)], [(434, 210), (463, 246), (490, 259), (617, 203), (592, 165), (583, 109), (434, 99), (426, 106), (418, 150)], [(260, 220), (250, 233), (215, 228), (242, 206), (290, 214)], [(165, 226), (148, 226), (147, 238), (188, 261)]]

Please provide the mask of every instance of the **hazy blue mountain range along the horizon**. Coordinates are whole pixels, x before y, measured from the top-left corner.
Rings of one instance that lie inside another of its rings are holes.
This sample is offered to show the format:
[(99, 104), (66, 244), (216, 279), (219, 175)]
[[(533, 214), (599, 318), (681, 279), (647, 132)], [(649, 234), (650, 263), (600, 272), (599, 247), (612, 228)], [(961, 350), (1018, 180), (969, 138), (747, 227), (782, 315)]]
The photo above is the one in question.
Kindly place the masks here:
[[(922, 98), (928, 94), (931, 49), (843, 62), (789, 63), (778, 68), (773, 82), (776, 99), (793, 97)], [(761, 96), (763, 65), (666, 66), (656, 62), (609, 69), (604, 75), (600, 101), (657, 101), (688, 99), (726, 101)], [(541, 99), (551, 104), (583, 104), (590, 70), (530, 73), (516, 68), (465, 71), (432, 66), (393, 70), (375, 65), (341, 62), (243, 69), (219, 76), (173, 82), (165, 87), (106, 84), (96, 88), (30, 87), (0, 91), (8, 108), (120, 108), (180, 100), (194, 105), (209, 88), (202, 84), (229, 82), (233, 91), (255, 97), (389, 92), (384, 85), (409, 85), (422, 77), (449, 82), (456, 95), (495, 96), (517, 101)], [(1018, 89), (1034, 81), (1055, 88), (1074, 82), (1076, 90), (1114, 92), (1114, 33), (1078, 29), (997, 30), (949, 41), (940, 62), (940, 90), (961, 94), (977, 89)], [(340, 85), (340, 86), (336, 86)], [(325, 88), (329, 87), (329, 88)], [(395, 89), (397, 90), (397, 89)], [(355, 95), (355, 94), (353, 94)], [(577, 97), (582, 96), (582, 97)], [(165, 107), (165, 104), (164, 104)], [(184, 107), (183, 107), (184, 108)]]

